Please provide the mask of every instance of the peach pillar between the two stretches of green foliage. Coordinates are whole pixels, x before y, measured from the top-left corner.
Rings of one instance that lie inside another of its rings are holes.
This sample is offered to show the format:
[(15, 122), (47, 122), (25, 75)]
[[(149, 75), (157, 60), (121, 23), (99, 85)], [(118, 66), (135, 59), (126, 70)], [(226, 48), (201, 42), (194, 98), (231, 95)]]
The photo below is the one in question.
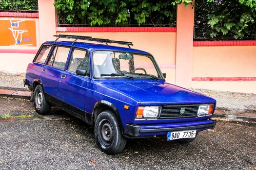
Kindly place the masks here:
[(191, 87), (194, 8), (177, 5), (176, 85)]

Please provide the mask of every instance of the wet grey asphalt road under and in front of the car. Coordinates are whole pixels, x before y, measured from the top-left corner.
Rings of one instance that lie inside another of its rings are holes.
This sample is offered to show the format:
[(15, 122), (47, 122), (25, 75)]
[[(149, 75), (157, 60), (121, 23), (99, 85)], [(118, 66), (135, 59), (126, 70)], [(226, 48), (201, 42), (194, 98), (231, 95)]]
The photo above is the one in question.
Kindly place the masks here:
[(33, 116), (0, 119), (0, 169), (256, 169), (255, 123), (218, 121), (189, 144), (133, 139), (122, 153), (107, 155), (98, 149), (93, 128), (52, 112), (59, 119), (41, 117), (29, 101), (0, 98), (0, 116)]

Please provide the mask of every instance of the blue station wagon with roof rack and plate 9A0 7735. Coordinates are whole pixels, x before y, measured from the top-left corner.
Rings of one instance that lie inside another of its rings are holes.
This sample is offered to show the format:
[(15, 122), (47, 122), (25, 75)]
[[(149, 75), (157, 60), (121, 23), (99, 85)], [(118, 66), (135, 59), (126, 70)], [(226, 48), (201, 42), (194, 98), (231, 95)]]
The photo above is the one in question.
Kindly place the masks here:
[(54, 105), (94, 126), (103, 152), (120, 153), (127, 138), (166, 136), (189, 143), (215, 127), (216, 100), (166, 83), (154, 57), (131, 49), (131, 42), (55, 36), (28, 65), (24, 85), (39, 114), (48, 114)]

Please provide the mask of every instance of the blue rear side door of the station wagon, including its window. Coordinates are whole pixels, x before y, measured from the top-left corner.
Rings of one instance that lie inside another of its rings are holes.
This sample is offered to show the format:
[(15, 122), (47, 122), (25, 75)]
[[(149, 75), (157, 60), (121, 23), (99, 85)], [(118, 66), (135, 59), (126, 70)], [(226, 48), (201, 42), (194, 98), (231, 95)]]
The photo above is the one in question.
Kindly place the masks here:
[(53, 51), (42, 69), (41, 79), (44, 93), (58, 98), (59, 77), (64, 70), (70, 48), (54, 46)]

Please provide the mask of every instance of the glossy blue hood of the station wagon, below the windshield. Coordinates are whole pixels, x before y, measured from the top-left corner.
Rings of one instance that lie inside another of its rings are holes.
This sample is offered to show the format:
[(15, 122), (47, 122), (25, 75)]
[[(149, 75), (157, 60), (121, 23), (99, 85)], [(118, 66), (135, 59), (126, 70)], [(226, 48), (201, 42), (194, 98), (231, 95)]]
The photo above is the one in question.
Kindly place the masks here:
[[(109, 80), (109, 79), (108, 79)], [(144, 104), (215, 103), (216, 100), (191, 90), (154, 80), (109, 80), (101, 85)]]

